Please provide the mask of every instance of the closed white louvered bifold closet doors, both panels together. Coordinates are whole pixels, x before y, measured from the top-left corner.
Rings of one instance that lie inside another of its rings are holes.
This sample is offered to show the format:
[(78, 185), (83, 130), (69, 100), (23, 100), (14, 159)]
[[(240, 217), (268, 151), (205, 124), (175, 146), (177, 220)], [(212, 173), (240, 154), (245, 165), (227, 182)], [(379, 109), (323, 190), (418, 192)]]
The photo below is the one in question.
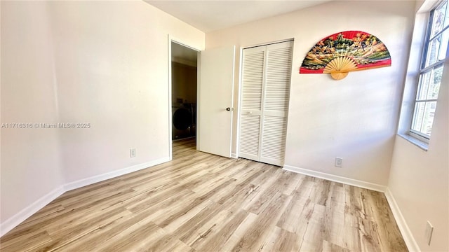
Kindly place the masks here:
[(239, 157), (283, 165), (293, 41), (243, 49)]

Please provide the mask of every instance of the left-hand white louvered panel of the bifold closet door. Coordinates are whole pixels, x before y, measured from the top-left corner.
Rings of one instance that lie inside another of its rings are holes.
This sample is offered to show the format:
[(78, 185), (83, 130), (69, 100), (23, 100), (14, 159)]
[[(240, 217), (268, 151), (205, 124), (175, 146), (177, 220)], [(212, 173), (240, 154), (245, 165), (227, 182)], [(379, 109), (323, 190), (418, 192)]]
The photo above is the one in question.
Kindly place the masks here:
[(259, 161), (265, 46), (243, 50), (239, 156)]

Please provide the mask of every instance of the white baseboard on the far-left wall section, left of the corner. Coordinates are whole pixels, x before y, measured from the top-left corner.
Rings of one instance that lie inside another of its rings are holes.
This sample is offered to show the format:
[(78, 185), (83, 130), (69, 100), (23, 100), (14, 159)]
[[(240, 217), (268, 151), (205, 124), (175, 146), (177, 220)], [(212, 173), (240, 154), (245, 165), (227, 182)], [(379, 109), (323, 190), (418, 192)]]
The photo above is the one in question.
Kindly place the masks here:
[(62, 195), (62, 193), (65, 193), (64, 186), (60, 186), (55, 190), (52, 190), (50, 193), (47, 193), (39, 200), (36, 200), (28, 207), (25, 207), (25, 209), (22, 209), (22, 211), (18, 212), (11, 218), (8, 218), (8, 220), (4, 221), (4, 223), (1, 223), (0, 225), (0, 237), (2, 237), (7, 232), (11, 231), (13, 228), (18, 226), (23, 221), (25, 221), (27, 218), (29, 218), (29, 216), (32, 216), (37, 211), (41, 210), (48, 203), (52, 202), (57, 197)]

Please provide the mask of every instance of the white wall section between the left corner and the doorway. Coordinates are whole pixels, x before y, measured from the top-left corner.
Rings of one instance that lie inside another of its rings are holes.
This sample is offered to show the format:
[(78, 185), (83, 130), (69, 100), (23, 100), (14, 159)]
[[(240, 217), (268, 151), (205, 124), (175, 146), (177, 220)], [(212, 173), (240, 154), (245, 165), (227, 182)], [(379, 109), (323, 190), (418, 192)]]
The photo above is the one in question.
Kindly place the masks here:
[(51, 10), (60, 119), (91, 123), (62, 137), (66, 181), (168, 158), (167, 35), (201, 49), (203, 32), (143, 1), (52, 2)]

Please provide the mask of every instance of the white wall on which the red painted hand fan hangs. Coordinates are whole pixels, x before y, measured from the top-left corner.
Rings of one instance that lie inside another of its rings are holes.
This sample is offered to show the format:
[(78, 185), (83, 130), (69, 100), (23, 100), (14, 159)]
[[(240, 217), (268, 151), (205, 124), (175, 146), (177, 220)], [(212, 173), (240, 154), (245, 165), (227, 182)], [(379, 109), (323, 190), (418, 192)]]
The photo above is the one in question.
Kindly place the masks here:
[[(324, 3), (206, 34), (206, 49), (295, 38), (285, 164), (387, 186), (414, 10), (414, 1)], [(349, 73), (339, 81), (298, 73), (316, 42), (346, 30), (380, 38), (392, 66)], [(235, 140), (234, 132), (233, 152)], [(342, 168), (334, 167), (335, 157), (343, 158)]]

